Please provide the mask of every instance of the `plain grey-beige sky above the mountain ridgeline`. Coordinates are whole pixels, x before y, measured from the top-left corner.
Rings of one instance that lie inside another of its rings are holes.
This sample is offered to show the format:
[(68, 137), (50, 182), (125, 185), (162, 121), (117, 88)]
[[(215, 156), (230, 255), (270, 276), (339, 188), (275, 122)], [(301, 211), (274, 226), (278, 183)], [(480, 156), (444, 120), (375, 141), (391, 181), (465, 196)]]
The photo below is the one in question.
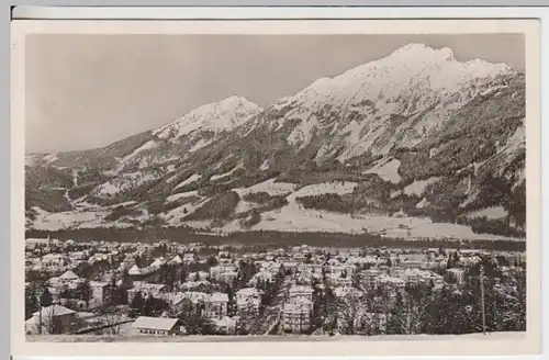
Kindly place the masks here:
[(26, 150), (109, 145), (204, 103), (261, 106), (408, 43), (524, 71), (522, 35), (27, 35)]

